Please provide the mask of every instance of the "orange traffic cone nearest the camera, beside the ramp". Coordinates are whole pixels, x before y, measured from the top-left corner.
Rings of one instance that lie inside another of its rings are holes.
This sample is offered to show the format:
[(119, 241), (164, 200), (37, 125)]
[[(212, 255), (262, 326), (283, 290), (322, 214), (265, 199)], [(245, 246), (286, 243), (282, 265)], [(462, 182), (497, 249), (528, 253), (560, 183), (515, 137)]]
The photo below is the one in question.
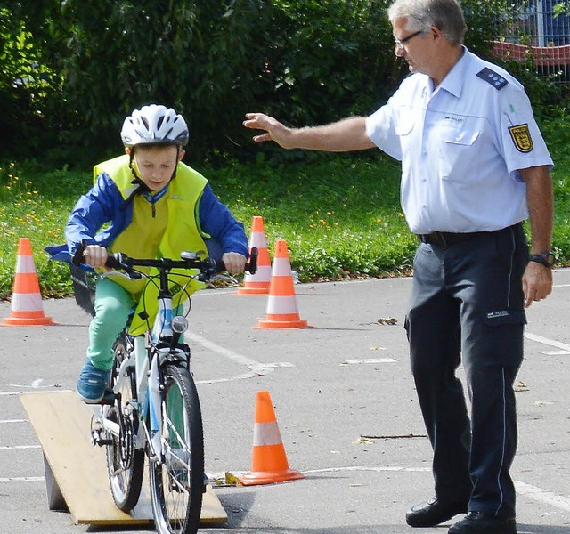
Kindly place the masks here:
[(253, 486), (302, 478), (305, 477), (301, 473), (289, 469), (269, 392), (257, 392), (251, 471), (240, 482)]

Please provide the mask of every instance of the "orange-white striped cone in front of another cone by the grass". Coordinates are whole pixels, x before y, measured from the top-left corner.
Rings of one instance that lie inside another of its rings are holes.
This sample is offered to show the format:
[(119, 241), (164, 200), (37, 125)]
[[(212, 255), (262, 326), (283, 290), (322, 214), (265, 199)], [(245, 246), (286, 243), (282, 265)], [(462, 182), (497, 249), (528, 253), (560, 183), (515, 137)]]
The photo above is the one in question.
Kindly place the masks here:
[(306, 320), (299, 316), (285, 239), (278, 239), (275, 243), (267, 313), (265, 320), (260, 320), (256, 328), (309, 328)]

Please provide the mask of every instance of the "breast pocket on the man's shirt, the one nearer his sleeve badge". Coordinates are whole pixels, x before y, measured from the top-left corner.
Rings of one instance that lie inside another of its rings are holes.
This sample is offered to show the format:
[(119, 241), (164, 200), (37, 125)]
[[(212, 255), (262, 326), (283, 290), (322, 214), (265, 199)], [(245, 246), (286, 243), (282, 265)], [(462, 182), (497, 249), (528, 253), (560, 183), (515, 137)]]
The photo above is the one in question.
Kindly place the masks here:
[(441, 132), (441, 176), (451, 182), (468, 182), (477, 165), (476, 141), (481, 132), (476, 128), (445, 128)]

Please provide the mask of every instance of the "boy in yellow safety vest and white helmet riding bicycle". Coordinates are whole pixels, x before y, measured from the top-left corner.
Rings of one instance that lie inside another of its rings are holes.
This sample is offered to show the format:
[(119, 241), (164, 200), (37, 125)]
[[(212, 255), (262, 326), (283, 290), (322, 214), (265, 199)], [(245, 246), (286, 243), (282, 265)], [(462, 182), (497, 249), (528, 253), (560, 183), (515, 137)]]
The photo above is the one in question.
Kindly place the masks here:
[[(243, 224), (216, 198), (208, 181), (182, 162), (188, 138), (188, 126), (174, 109), (151, 104), (126, 117), (121, 131), (126, 154), (94, 166), (93, 188), (69, 215), (65, 235), (70, 257), (85, 240), (85, 263), (99, 271), (114, 252), (178, 258), (185, 250), (208, 250), (209, 256), (222, 255), (232, 274), (244, 271), (248, 239)], [(102, 401), (113, 366), (112, 345), (145, 284), (144, 278), (119, 275), (96, 281), (87, 360), (77, 381), (77, 393), (88, 404)], [(151, 300), (145, 303), (147, 313)]]

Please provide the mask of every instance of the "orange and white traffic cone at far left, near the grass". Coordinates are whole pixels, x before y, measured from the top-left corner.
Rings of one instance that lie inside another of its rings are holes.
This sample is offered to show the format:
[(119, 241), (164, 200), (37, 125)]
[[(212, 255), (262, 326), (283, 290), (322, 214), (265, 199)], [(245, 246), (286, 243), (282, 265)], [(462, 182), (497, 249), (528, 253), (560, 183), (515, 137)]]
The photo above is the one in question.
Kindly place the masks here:
[(12, 312), (2, 321), (4, 327), (30, 327), (55, 325), (51, 317), (45, 317), (42, 294), (39, 291), (36, 265), (28, 238), (20, 238), (16, 276), (12, 291)]

